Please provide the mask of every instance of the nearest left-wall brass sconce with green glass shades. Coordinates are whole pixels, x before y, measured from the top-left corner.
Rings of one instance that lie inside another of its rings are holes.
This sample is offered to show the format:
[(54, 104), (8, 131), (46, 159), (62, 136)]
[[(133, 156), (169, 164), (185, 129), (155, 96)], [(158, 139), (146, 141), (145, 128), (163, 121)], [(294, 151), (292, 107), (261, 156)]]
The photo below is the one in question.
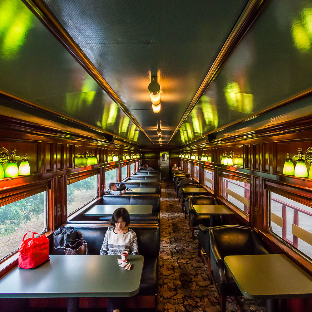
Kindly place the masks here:
[[(11, 157), (11, 158), (10, 158)], [(10, 158), (10, 159), (9, 159)], [(17, 167), (17, 160), (15, 158), (22, 159), (19, 167)], [(2, 165), (7, 163), (7, 167), (3, 172)], [(18, 175), (26, 176), (30, 175), (29, 160), (27, 154), (24, 157), (16, 155), (15, 147), (12, 148), (11, 154), (4, 147), (0, 148), (0, 179), (2, 178), (16, 178)]]

